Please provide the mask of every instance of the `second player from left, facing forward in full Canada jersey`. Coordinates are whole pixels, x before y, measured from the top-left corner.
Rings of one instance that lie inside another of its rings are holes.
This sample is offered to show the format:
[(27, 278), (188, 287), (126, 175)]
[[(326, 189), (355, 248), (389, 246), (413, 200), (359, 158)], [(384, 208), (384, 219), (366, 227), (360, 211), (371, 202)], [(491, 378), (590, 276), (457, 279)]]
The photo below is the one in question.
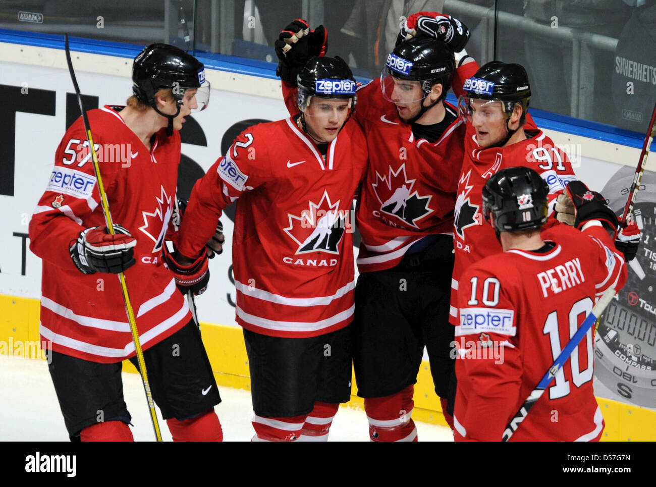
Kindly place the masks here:
[(340, 58), (298, 73), (300, 114), (246, 129), (192, 191), (177, 258), (194, 258), (237, 201), (236, 320), (251, 371), (253, 440), (327, 440), (350, 399), (353, 195), (367, 165), (356, 81)]

